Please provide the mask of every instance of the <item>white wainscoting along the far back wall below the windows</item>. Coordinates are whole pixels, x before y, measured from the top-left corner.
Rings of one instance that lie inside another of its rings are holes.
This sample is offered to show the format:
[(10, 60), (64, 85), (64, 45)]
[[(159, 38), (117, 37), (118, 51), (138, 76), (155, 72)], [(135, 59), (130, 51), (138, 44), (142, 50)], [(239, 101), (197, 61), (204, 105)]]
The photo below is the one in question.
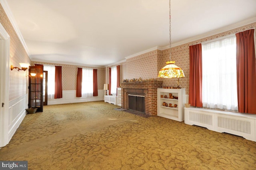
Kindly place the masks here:
[(88, 101), (104, 101), (105, 90), (98, 90), (98, 96), (76, 97), (76, 90), (63, 90), (61, 99), (48, 99), (48, 105), (58, 105), (66, 103), (80, 103)]

